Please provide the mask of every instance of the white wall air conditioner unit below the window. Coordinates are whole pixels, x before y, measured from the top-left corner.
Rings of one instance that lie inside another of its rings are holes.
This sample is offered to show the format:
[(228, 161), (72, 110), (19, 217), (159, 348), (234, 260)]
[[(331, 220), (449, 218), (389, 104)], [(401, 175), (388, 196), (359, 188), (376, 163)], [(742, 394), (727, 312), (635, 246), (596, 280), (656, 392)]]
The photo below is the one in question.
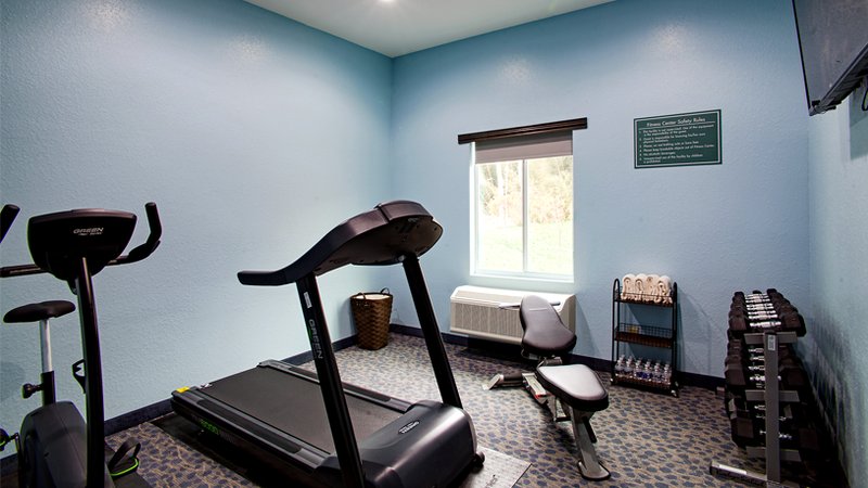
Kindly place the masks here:
[(519, 304), (526, 295), (538, 295), (553, 304), (563, 324), (576, 330), (576, 296), (519, 290), (462, 285), (449, 299), (449, 331), (471, 337), (521, 344)]

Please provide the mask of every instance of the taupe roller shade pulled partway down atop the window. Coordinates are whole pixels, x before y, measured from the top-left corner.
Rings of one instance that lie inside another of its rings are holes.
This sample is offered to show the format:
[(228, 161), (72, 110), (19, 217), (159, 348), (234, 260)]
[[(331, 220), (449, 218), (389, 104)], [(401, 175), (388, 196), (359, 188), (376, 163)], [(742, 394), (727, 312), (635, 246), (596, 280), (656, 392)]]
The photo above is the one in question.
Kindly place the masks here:
[(475, 163), (573, 155), (573, 132), (546, 132), (476, 141)]

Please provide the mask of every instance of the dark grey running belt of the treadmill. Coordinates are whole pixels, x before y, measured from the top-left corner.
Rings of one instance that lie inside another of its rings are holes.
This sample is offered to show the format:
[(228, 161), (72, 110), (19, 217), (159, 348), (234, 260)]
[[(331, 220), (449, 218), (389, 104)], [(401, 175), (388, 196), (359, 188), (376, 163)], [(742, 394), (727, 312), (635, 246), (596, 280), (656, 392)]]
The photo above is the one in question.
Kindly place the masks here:
[[(200, 391), (326, 452), (334, 452), (318, 383), (257, 367), (217, 380)], [(358, 442), (401, 415), (352, 395), (346, 395), (346, 403)]]

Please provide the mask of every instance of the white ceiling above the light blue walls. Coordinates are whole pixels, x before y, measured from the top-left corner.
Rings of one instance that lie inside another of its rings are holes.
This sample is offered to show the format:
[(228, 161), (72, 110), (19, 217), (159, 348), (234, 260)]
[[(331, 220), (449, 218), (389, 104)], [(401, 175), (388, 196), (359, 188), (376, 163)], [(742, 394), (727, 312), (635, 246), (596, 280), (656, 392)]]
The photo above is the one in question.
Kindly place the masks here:
[(612, 0), (245, 0), (391, 57)]

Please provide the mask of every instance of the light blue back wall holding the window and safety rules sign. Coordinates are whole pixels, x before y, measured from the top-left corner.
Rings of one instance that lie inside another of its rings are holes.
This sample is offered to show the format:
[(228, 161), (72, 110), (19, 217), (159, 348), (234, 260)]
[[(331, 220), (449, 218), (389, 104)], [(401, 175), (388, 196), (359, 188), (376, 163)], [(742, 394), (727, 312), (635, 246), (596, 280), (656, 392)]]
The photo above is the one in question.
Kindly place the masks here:
[[(446, 230), (426, 257), (442, 326), (460, 284), (567, 291), (575, 351), (608, 359), (613, 280), (666, 273), (680, 290), (681, 369), (719, 377), (735, 291), (776, 286), (806, 307), (807, 116), (791, 9), (618, 0), (397, 59), (394, 189)], [(634, 169), (634, 118), (717, 108), (722, 165)], [(576, 282), (470, 277), (470, 147), (456, 136), (576, 117), (588, 118), (573, 145)], [(414, 318), (406, 303), (397, 316)]]

